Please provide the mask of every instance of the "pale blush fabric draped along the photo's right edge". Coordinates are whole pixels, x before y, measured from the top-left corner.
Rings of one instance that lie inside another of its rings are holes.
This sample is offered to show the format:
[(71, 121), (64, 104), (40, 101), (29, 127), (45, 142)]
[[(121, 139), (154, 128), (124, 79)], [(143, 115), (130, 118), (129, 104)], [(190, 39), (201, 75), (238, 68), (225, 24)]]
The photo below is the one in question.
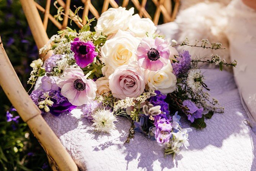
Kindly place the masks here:
[(233, 0), (227, 8), (226, 34), (230, 42), (230, 57), (238, 61), (235, 80), (256, 121), (256, 10), (241, 0)]

